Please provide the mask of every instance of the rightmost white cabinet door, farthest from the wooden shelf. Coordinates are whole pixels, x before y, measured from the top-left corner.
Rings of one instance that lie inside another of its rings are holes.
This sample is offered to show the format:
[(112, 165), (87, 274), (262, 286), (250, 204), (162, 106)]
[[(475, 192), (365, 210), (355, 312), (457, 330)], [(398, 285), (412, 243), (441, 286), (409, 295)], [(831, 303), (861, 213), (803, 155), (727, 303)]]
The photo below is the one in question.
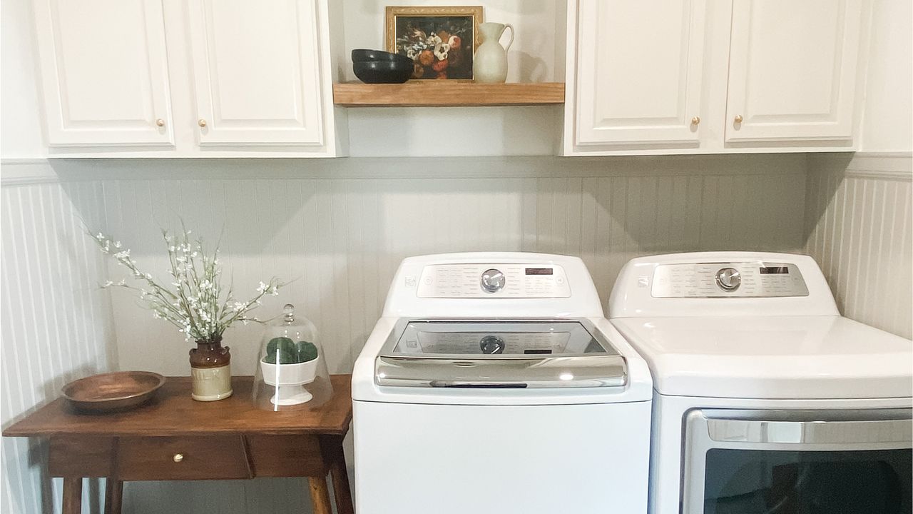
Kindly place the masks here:
[(860, 0), (735, 2), (726, 140), (852, 138), (861, 22)]

